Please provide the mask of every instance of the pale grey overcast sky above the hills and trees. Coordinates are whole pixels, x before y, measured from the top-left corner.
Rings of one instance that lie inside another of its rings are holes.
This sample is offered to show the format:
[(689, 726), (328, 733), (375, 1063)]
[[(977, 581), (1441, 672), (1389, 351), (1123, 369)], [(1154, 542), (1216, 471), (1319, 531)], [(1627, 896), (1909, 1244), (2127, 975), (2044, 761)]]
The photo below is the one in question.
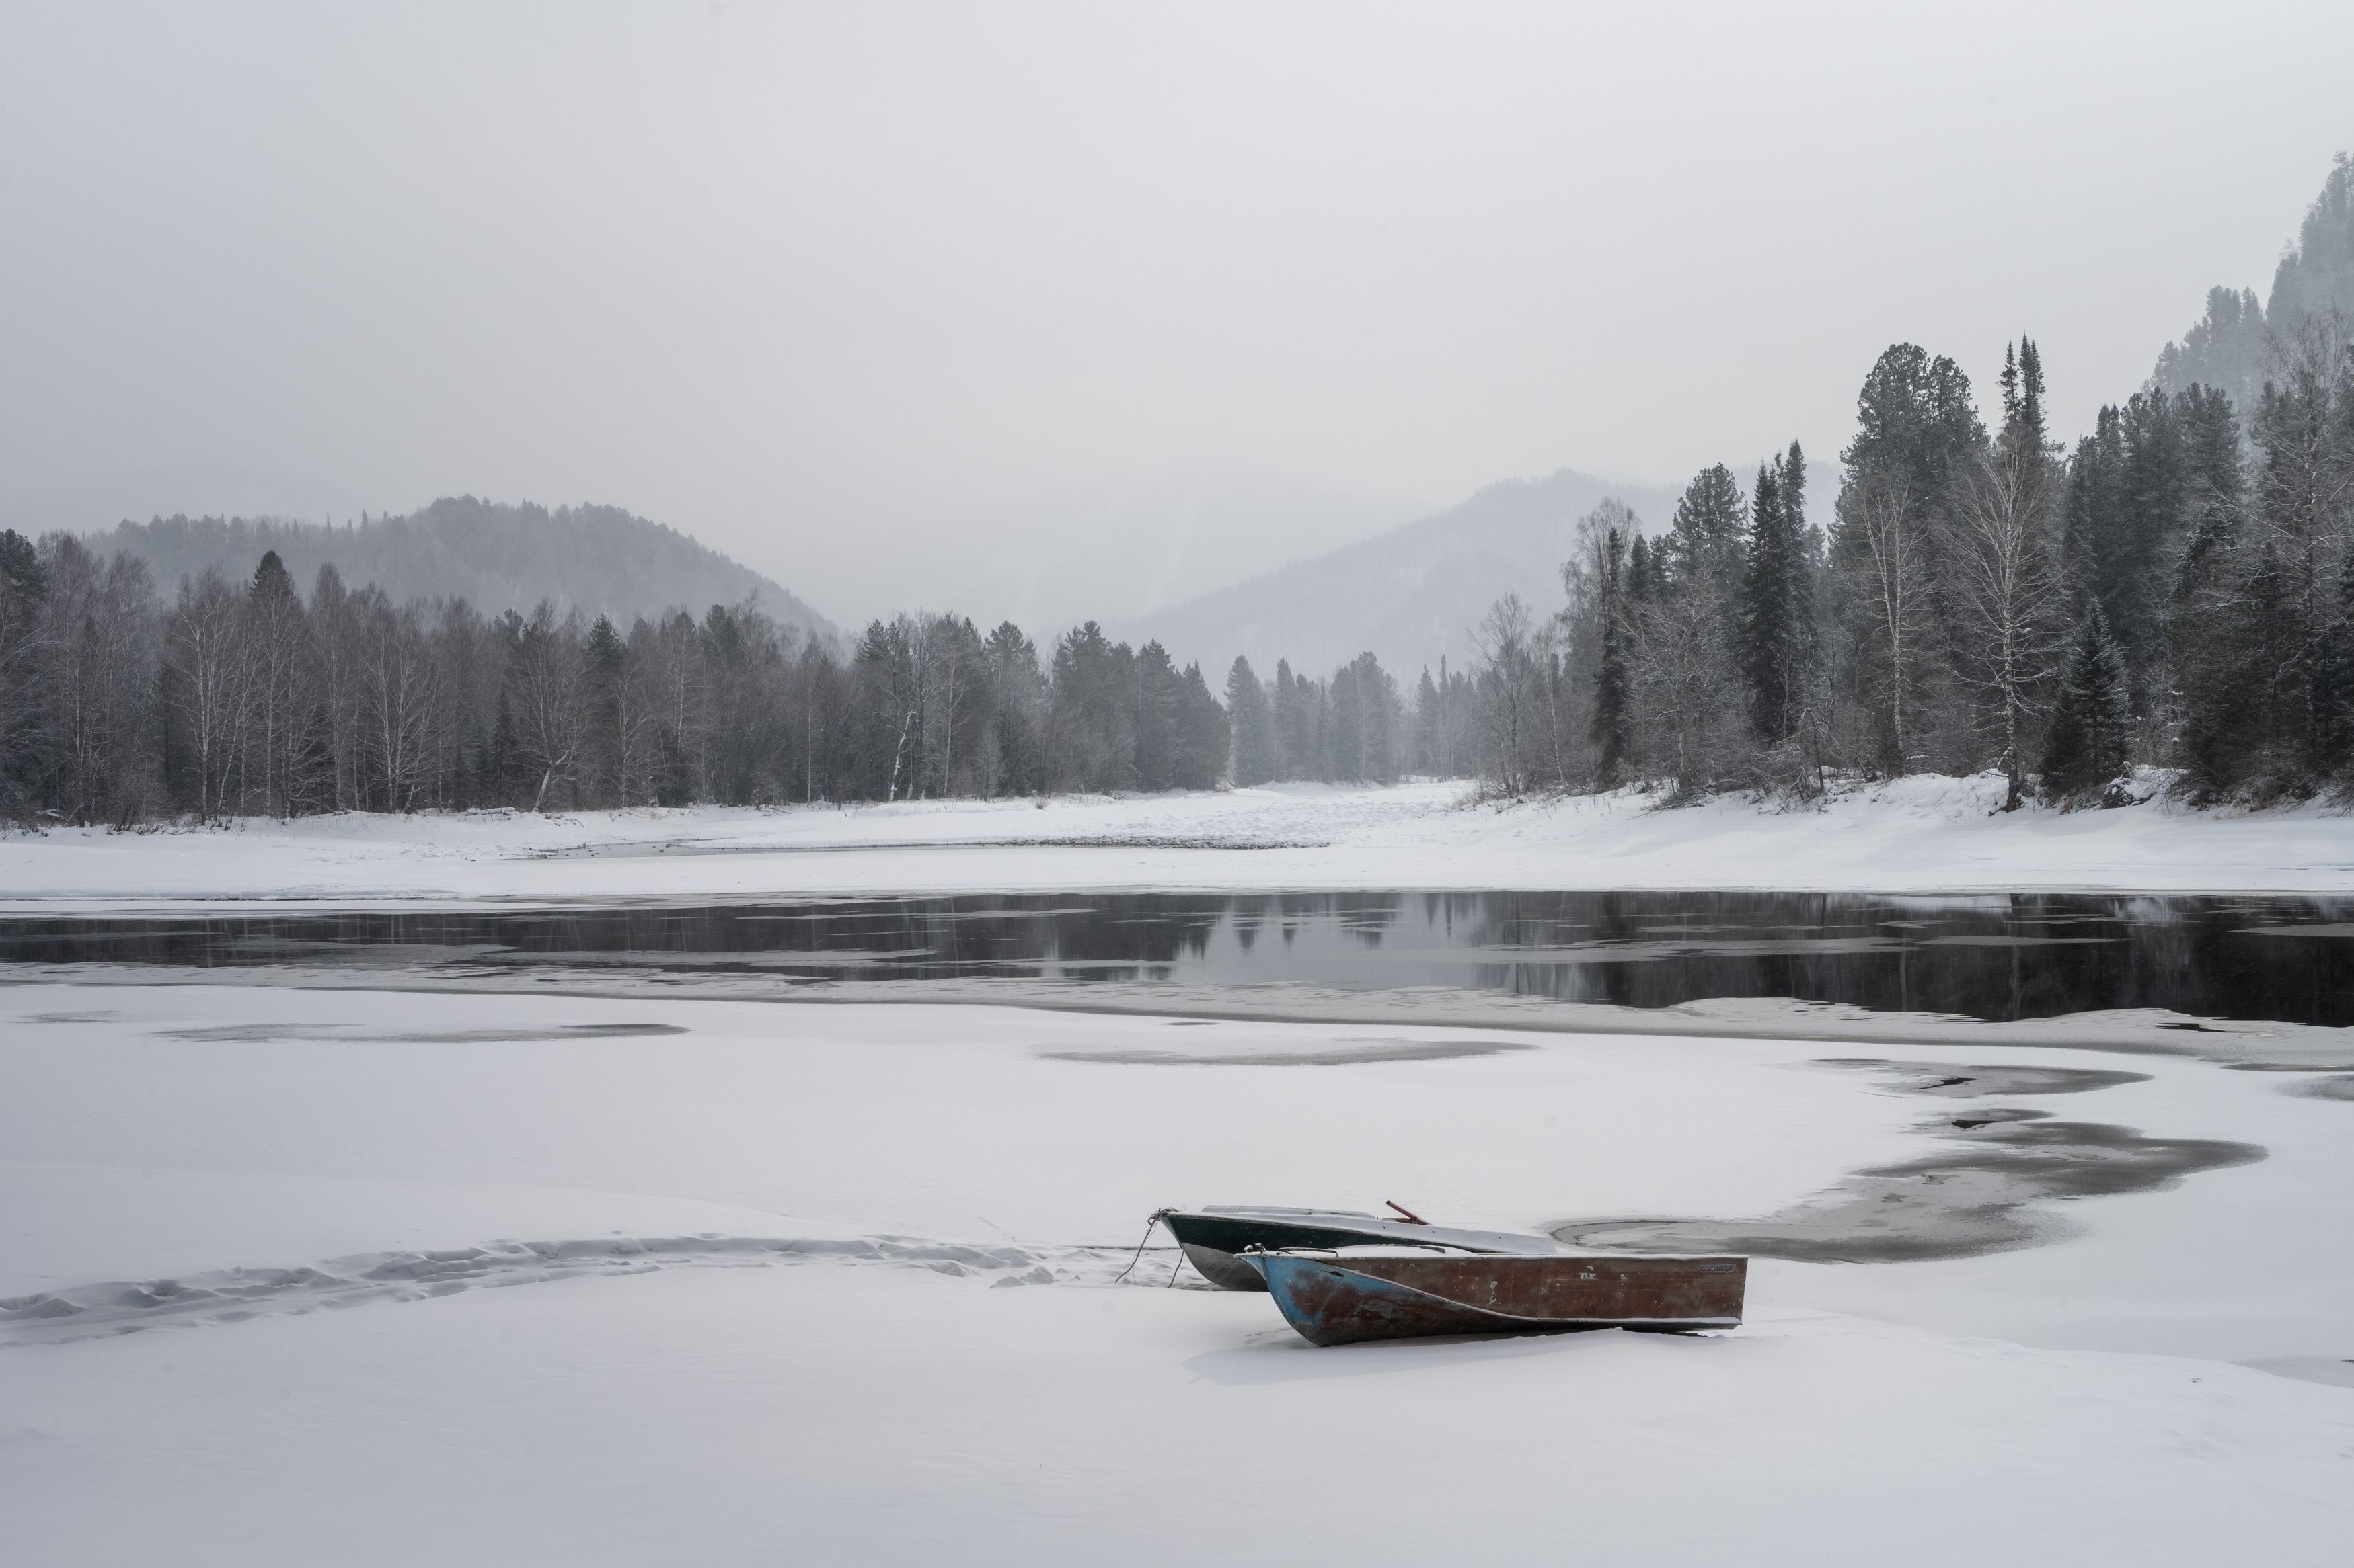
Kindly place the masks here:
[(1321, 543), (1827, 461), (1895, 339), (1991, 397), (2034, 334), (2074, 433), (2269, 282), (2349, 59), (2345, 2), (5, 5), (0, 496), (612, 501), (855, 618), (1161, 487)]

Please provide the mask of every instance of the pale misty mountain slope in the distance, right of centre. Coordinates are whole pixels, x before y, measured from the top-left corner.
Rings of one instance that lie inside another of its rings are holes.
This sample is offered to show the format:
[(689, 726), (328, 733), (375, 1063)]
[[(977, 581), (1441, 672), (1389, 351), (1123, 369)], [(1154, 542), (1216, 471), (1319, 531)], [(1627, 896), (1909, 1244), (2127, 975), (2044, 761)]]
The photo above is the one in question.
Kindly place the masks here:
[[(1248, 654), (1259, 675), (1290, 658), (1328, 672), (1365, 649), (1401, 679), (1462, 663), (1471, 628), (1507, 592), (1537, 614), (1561, 607), (1561, 562), (1584, 512), (1603, 498), (1636, 510), (1645, 531), (1667, 524), (1674, 496), (1563, 468), (1544, 480), (1504, 480), (1462, 505), (1375, 538), (1278, 567), (1121, 628), (1158, 637), (1179, 663), (1222, 672)], [(1212, 682), (1215, 684), (1215, 682)]]

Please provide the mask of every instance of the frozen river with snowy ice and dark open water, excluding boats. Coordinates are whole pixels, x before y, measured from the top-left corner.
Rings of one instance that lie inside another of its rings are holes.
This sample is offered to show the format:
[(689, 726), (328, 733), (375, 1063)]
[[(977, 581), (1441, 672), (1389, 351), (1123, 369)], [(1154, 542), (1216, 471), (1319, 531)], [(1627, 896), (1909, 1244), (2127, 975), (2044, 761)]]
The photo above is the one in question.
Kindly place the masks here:
[[(2354, 898), (1036, 877), (19, 907), (12, 1544), (1290, 1563), (1403, 1474), (1356, 1561), (2347, 1561)], [(1749, 1253), (1747, 1321), (1125, 1272), (1384, 1199)]]

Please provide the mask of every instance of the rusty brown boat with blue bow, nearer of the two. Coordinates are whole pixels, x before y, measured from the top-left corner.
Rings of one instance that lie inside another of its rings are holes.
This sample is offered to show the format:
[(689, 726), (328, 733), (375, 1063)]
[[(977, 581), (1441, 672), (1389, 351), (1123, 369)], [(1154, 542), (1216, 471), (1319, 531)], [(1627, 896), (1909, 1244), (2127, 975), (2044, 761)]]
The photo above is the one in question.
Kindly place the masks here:
[(1309, 1345), (1459, 1333), (1737, 1328), (1747, 1258), (1530, 1258), (1401, 1246), (1264, 1248), (1241, 1262), (1266, 1281)]

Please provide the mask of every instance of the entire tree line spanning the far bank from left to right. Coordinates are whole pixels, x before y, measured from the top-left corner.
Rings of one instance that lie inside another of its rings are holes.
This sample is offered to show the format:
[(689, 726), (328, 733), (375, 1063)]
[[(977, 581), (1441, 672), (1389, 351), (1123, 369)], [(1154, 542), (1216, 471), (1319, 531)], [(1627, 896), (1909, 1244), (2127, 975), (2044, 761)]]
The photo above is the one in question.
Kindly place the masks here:
[[(1095, 623), (895, 616), (855, 644), (753, 602), (610, 618), (395, 604), (334, 564), (304, 595), (0, 534), (0, 813), (165, 816), (890, 802), (1481, 773), (1507, 795), (1806, 797), (1999, 769), (2008, 802), (2114, 799), (2135, 762), (2199, 799), (2302, 797), (2354, 766), (2354, 350), (2274, 336), (2250, 411), (2142, 390), (2062, 451), (2034, 341), (1989, 430), (1900, 343), (1857, 400), (1831, 522), (1791, 444), (1702, 470), (1669, 527), (1605, 501), (1568, 607), (1499, 602), (1469, 668), (1410, 693), (1245, 658), (1212, 693)], [(1222, 701), (1219, 701), (1222, 698)]]

